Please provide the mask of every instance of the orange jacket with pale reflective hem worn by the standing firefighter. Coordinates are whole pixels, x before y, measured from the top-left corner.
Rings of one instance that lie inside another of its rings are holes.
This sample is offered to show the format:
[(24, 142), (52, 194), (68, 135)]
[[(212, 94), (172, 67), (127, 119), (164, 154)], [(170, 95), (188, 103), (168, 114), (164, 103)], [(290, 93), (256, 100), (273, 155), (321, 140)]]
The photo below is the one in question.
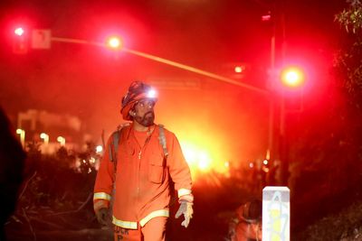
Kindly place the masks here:
[[(110, 207), (113, 195), (112, 223), (137, 229), (155, 217), (169, 216), (169, 178), (175, 182), (178, 198), (191, 194), (190, 169), (176, 135), (164, 129), (168, 155), (159, 143), (159, 127), (153, 125), (144, 146), (140, 146), (132, 125), (122, 128), (119, 136), (117, 168), (110, 162), (110, 139), (100, 162), (94, 186), (94, 209)], [(115, 174), (116, 172), (116, 174)], [(112, 194), (114, 182), (114, 194)]]

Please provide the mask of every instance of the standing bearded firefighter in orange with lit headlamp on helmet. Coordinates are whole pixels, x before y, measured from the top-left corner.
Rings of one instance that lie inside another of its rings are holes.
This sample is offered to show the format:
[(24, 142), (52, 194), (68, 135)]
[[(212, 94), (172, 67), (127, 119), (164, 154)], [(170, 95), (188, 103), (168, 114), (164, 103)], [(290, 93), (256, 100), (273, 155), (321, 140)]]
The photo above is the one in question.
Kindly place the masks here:
[(130, 123), (110, 136), (100, 162), (94, 210), (101, 225), (111, 219), (114, 240), (166, 240), (171, 182), (180, 204), (176, 218), (184, 216), (187, 227), (193, 215), (190, 170), (176, 135), (154, 124), (153, 94), (147, 84), (131, 83), (120, 110)]

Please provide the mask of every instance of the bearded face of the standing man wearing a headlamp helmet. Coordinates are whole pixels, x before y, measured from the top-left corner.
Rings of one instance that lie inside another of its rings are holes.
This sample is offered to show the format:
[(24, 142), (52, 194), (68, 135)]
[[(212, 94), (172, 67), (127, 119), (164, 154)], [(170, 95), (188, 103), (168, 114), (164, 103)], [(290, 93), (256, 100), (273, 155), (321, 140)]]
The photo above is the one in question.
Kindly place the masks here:
[(138, 101), (134, 108), (136, 116), (133, 116), (133, 119), (143, 126), (153, 125), (155, 121), (154, 107), (155, 101), (153, 99), (146, 98)]

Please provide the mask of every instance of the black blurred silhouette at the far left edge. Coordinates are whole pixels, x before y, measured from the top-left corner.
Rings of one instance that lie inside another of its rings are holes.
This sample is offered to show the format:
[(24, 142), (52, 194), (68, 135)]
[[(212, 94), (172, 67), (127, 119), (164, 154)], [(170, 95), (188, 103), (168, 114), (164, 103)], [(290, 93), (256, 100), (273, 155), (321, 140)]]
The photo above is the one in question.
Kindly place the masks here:
[(25, 153), (0, 107), (0, 241), (6, 240), (5, 223), (13, 214), (23, 181)]

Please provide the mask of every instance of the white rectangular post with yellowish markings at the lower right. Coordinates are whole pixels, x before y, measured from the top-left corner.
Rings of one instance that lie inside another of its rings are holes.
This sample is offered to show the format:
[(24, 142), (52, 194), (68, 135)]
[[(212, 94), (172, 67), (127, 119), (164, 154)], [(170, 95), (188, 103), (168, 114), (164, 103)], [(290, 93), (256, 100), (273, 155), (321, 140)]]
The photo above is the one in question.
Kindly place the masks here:
[(291, 194), (288, 187), (262, 190), (262, 241), (290, 241)]

